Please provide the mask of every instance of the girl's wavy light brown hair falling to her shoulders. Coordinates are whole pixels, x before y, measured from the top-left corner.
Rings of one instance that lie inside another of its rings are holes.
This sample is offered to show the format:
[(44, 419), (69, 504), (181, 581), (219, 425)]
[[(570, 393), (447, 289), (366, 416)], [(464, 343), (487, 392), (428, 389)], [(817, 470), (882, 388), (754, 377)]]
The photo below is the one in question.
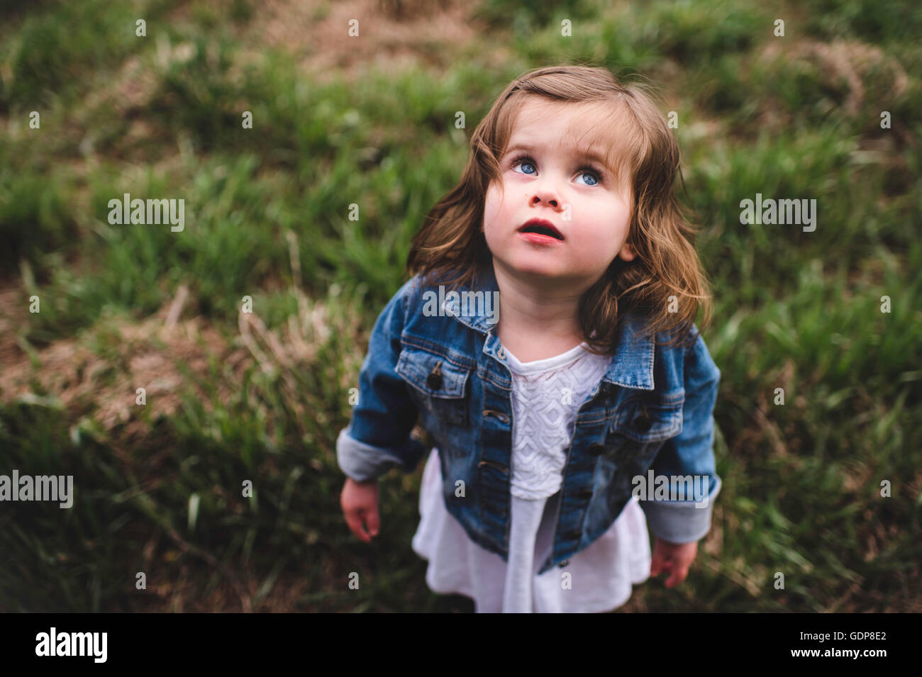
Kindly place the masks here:
[(585, 341), (597, 354), (614, 354), (624, 318), (637, 310), (647, 320), (645, 336), (662, 332), (668, 340), (657, 343), (687, 344), (699, 308), (703, 326), (710, 322), (710, 290), (693, 245), (695, 229), (673, 191), (681, 177), (679, 145), (652, 92), (642, 82), (622, 85), (608, 69), (585, 65), (547, 66), (517, 77), (474, 130), (461, 181), (431, 208), (414, 237), (408, 274), (457, 289), (492, 265), (482, 231), (484, 202), (491, 181), (502, 186), (499, 159), (518, 112), (534, 97), (583, 104), (600, 113), (594, 141), (606, 149), (607, 167), (630, 186), (627, 242), (636, 252), (629, 263), (616, 256), (580, 298)]

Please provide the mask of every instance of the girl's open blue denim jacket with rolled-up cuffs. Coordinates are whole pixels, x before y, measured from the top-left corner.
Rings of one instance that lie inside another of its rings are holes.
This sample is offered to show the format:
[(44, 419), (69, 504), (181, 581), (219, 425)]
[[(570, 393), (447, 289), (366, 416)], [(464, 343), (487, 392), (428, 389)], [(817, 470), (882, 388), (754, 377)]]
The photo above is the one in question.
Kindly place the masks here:
[[(473, 290), (496, 298), (492, 266), (461, 286), (460, 296), (472, 298), (464, 295)], [(337, 461), (359, 482), (392, 467), (412, 473), (431, 450), (410, 434), (419, 417), (439, 449), (446, 508), (475, 543), (508, 561), (512, 375), (495, 316), (482, 305), (456, 302), (433, 313), (425, 300), (432, 295), (422, 296), (427, 291), (439, 293), (413, 277), (375, 321), (359, 401), (337, 438)], [(439, 298), (446, 298), (444, 289)], [(566, 566), (607, 531), (641, 476), (651, 480), (637, 496), (654, 535), (691, 543), (710, 530), (720, 490), (713, 449), (720, 370), (697, 327), (692, 344), (667, 348), (639, 338), (642, 321), (626, 318), (608, 371), (579, 407), (565, 449), (553, 545), (539, 574)], [(689, 475), (703, 491), (681, 490), (680, 476), (687, 482)], [(660, 487), (669, 481), (672, 492), (655, 494), (655, 477)]]

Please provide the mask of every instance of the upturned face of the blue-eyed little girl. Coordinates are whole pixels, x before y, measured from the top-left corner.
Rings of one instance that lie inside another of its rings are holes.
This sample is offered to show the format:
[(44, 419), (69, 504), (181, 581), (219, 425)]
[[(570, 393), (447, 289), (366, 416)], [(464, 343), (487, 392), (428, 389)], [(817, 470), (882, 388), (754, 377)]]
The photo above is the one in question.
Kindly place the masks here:
[[(573, 104), (534, 99), (520, 113), (500, 158), (504, 190), (491, 183), (484, 204), (484, 237), (494, 267), (501, 266), (504, 274), (588, 288), (616, 256), (633, 259), (625, 242), (629, 189), (615, 185), (599, 160), (577, 157), (572, 146), (561, 146), (568, 125), (585, 122), (585, 115)], [(516, 159), (521, 155), (528, 158)], [(533, 218), (550, 221), (563, 239), (537, 241), (519, 232)]]

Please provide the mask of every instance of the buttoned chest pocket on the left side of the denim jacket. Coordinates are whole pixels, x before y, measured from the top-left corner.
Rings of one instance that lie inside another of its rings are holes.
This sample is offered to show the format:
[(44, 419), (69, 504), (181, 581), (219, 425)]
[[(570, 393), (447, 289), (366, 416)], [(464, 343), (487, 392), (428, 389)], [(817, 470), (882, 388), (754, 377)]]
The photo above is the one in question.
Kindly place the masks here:
[(467, 425), (465, 391), (473, 366), (467, 367), (443, 355), (404, 345), (395, 370), (407, 381), (410, 397), (420, 412), (429, 412), (453, 426)]

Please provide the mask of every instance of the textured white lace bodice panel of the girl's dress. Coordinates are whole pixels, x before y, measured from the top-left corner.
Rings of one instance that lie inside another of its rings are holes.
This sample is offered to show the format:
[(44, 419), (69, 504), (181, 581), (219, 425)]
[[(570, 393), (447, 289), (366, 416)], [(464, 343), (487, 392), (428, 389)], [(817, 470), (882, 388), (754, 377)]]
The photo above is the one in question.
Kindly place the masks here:
[(553, 496), (563, 482), (565, 449), (576, 414), (608, 371), (611, 356), (593, 355), (579, 344), (558, 356), (533, 362), (505, 351), (513, 377), (513, 496)]

